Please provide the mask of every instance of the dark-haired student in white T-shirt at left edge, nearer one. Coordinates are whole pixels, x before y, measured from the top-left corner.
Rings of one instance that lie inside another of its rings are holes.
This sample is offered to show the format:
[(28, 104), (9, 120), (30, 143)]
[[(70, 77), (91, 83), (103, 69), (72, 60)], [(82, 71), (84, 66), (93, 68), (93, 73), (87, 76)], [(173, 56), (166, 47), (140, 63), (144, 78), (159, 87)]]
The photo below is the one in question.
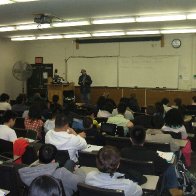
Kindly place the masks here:
[(12, 127), (15, 124), (16, 113), (7, 110), (3, 114), (3, 125), (0, 125), (0, 139), (14, 142), (17, 139), (16, 132)]

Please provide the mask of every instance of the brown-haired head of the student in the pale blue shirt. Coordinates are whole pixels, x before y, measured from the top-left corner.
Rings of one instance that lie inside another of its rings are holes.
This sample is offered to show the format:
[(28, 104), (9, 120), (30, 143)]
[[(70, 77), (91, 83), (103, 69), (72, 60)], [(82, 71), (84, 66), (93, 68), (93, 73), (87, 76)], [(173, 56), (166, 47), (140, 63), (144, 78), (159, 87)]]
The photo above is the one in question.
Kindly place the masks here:
[(113, 146), (104, 146), (97, 153), (96, 164), (100, 172), (112, 176), (120, 165), (119, 151)]

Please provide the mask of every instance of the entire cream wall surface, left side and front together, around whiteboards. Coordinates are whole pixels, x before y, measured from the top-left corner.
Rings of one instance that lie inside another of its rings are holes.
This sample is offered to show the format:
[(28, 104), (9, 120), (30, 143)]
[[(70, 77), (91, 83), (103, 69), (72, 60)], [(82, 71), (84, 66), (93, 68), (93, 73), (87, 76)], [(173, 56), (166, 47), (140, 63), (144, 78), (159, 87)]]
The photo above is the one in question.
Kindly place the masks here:
[[(174, 49), (171, 46), (171, 41), (174, 38), (181, 39), (182, 46), (179, 49)], [(66, 77), (65, 59), (70, 56), (120, 56), (130, 58), (157, 55), (179, 56), (179, 73), (177, 73), (179, 75), (179, 89), (190, 90), (196, 88), (196, 79), (193, 78), (193, 75), (196, 74), (196, 36), (194, 34), (165, 35), (164, 43), (164, 47), (161, 47), (160, 42), (81, 44), (79, 49), (76, 49), (72, 40), (65, 39), (26, 42), (0, 40), (0, 91), (6, 91), (14, 98), (20, 92), (21, 82), (13, 78), (12, 65), (16, 60), (26, 60), (29, 63), (34, 63), (35, 57), (39, 56), (44, 58), (44, 63), (53, 63), (54, 68), (58, 69), (59, 75), (64, 78)], [(100, 77), (100, 75), (94, 77)]]

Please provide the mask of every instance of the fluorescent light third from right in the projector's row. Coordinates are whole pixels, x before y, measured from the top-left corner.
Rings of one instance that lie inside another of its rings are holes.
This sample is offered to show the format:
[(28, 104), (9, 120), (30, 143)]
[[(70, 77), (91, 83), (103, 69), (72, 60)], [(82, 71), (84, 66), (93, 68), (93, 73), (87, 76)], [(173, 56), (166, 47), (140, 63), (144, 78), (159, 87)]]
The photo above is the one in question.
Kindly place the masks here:
[(111, 18), (111, 19), (95, 19), (92, 20), (92, 24), (115, 24), (115, 23), (129, 23), (135, 22), (135, 18)]

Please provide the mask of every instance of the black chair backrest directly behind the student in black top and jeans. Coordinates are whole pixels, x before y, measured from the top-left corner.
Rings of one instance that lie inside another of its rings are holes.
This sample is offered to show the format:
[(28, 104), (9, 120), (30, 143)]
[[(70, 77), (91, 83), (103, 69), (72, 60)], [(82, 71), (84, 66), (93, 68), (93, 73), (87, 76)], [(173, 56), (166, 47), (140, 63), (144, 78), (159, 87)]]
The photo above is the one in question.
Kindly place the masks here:
[(129, 169), (136, 170), (141, 174), (155, 175), (154, 163), (152, 161), (139, 161), (121, 158), (119, 170), (126, 173)]

